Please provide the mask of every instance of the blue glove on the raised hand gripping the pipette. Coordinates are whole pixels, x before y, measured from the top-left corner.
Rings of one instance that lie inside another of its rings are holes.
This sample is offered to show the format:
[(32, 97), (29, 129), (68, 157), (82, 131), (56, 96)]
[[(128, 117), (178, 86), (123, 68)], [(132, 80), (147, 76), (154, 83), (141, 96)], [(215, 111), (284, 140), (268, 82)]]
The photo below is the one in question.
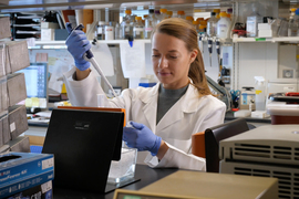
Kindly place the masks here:
[(72, 54), (75, 61), (75, 66), (80, 71), (85, 71), (91, 66), (91, 63), (84, 60), (84, 54), (87, 50), (91, 49), (91, 43), (87, 40), (85, 33), (81, 30), (70, 30), (65, 25), (68, 31), (71, 32), (69, 38), (65, 41), (68, 51)]

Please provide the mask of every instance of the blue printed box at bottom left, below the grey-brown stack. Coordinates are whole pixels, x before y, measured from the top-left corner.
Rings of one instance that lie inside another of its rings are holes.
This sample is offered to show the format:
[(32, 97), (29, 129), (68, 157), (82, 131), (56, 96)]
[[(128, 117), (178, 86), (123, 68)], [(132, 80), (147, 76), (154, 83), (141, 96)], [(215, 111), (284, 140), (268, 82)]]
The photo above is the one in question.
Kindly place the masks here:
[(0, 155), (0, 198), (54, 178), (53, 155), (7, 153)]

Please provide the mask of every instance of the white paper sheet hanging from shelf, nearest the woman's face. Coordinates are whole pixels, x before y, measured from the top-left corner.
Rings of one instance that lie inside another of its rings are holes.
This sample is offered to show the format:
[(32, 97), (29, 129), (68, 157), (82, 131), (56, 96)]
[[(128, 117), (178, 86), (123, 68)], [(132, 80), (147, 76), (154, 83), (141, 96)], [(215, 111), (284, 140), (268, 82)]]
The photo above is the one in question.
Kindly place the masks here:
[(133, 41), (133, 48), (128, 42), (120, 43), (121, 62), (125, 78), (145, 77), (145, 48), (143, 41)]

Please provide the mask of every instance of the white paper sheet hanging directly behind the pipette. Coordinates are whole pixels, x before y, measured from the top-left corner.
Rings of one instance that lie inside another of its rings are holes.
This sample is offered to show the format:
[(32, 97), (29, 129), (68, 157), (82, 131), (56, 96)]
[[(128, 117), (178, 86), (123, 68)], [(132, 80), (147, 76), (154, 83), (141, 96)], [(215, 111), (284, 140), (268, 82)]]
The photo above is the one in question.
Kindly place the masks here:
[[(113, 57), (111, 51), (106, 43), (96, 43), (96, 45), (92, 45), (92, 53), (94, 55), (95, 61), (100, 65), (105, 76), (114, 75), (114, 66), (113, 66)], [(91, 64), (91, 70), (94, 72), (96, 76), (100, 74), (94, 70)]]

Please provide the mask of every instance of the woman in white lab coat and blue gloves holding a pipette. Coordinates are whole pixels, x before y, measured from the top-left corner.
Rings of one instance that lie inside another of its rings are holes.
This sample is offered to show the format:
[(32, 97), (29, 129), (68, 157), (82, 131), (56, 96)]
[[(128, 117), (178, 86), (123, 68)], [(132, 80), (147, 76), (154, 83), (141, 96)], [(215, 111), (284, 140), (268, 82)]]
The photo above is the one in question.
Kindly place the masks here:
[[(96, 94), (103, 91), (82, 59), (91, 45), (82, 31), (73, 31), (66, 45), (76, 66), (64, 74), (71, 103), (96, 106)], [(190, 138), (221, 124), (226, 107), (208, 88), (193, 25), (178, 18), (158, 23), (152, 34), (152, 62), (159, 81), (156, 86), (124, 90), (107, 102), (125, 108), (126, 119), (133, 121), (133, 128), (124, 128), (123, 139), (145, 150), (144, 161), (151, 167), (205, 170), (205, 159), (190, 154)]]

